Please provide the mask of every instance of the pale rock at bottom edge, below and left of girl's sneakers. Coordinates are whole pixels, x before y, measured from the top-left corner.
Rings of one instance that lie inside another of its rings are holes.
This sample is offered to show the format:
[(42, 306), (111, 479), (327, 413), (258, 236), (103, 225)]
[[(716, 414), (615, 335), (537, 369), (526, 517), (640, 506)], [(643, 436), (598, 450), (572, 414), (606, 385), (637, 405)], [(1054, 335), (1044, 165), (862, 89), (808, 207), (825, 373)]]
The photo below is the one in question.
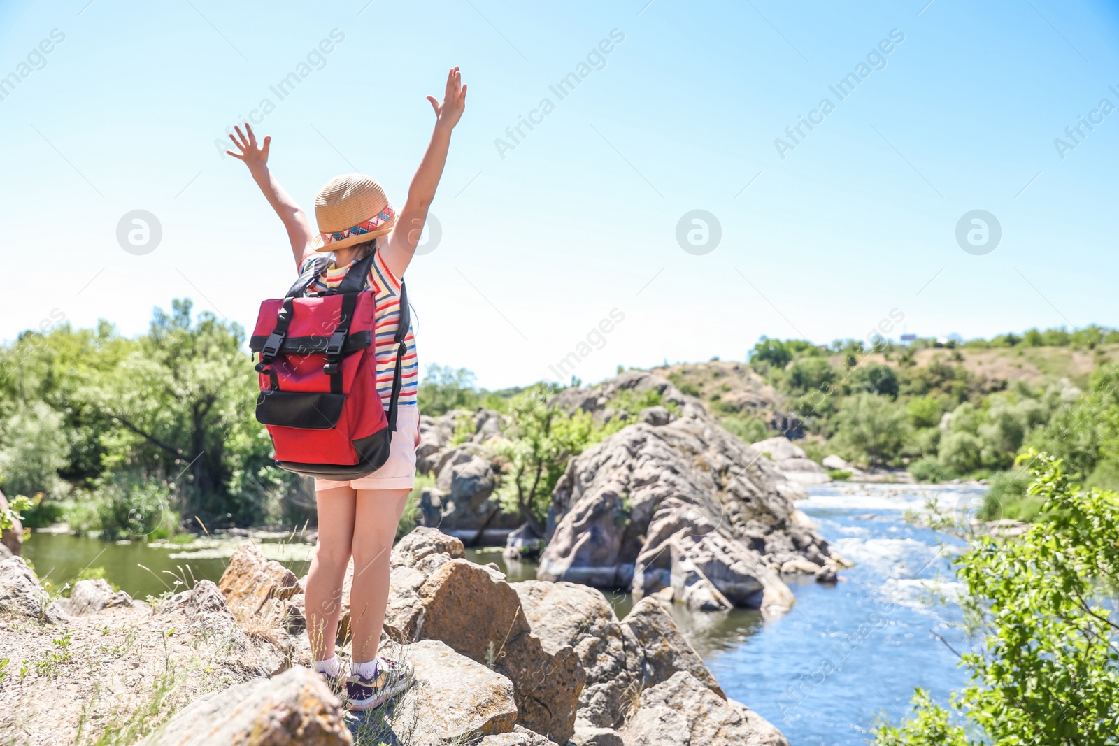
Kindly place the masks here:
[(254, 679), (207, 695), (140, 744), (341, 746), (354, 743), (344, 718), (341, 702), (322, 677), (293, 668), (271, 679)]

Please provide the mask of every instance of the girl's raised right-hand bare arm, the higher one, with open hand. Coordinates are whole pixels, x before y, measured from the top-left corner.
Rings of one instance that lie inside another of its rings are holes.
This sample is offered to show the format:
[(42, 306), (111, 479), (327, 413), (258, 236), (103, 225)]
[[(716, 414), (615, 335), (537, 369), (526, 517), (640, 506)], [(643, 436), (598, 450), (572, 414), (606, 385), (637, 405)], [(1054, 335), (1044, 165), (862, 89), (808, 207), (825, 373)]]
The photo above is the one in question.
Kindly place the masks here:
[(408, 199), (404, 202), (396, 227), (389, 234), (385, 247), (380, 249), (382, 258), (397, 277), (404, 276), (404, 271), (407, 270), (416, 251), (423, 224), (427, 219), (427, 209), (431, 207), (431, 200), (435, 198), (435, 188), (443, 176), (446, 150), (451, 145), (451, 130), (459, 123), (467, 105), (467, 86), (462, 84), (462, 74), (458, 67), (452, 67), (446, 74), (443, 103), (440, 104), (434, 96), (427, 96), (427, 101), (435, 110), (435, 129), (431, 133), (431, 142), (427, 143), (427, 150), (420, 161), (420, 168), (412, 177)]

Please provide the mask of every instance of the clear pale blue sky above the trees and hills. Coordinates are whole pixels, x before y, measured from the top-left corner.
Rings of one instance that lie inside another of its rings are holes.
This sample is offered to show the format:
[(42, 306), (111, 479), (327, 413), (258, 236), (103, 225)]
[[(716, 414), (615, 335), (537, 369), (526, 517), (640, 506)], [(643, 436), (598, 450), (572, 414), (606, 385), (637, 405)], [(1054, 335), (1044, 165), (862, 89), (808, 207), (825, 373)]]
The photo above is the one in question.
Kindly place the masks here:
[(399, 206), (453, 65), (424, 368), (1119, 325), (1117, 41), (1087, 0), (0, 0), (0, 340), (177, 298), (251, 328), (294, 270), (227, 129), (258, 122), (309, 211), (352, 171)]

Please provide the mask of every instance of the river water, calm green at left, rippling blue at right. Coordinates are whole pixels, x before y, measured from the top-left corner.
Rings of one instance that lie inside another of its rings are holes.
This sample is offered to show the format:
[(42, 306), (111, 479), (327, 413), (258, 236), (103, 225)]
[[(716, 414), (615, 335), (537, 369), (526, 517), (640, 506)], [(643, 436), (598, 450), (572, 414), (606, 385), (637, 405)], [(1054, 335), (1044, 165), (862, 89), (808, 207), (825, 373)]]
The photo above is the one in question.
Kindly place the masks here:
[[(673, 616), (703, 655), (727, 696), (777, 725), (792, 746), (853, 746), (866, 743), (877, 715), (896, 723), (908, 711), (914, 687), (946, 701), (965, 673), (955, 653), (966, 646), (946, 626), (959, 620), (951, 603), (951, 556), (961, 542), (904, 520), (906, 509), (927, 499), (965, 509), (981, 494), (971, 488), (913, 485), (821, 485), (797, 503), (818, 531), (855, 567), (841, 583), (793, 583), (797, 605), (780, 618), (734, 610)], [(244, 538), (191, 545), (105, 542), (66, 533), (36, 532), (23, 548), (40, 577), (56, 585), (84, 567), (138, 598), (217, 580)], [(307, 572), (310, 546), (284, 535), (254, 535), (264, 554)], [(497, 563), (510, 580), (535, 577), (528, 563), (506, 564), (500, 550), (471, 550), (479, 563)], [(177, 585), (178, 584), (178, 585)], [(619, 617), (632, 605), (628, 594), (606, 593)], [(934, 603), (947, 598), (948, 603)], [(938, 639), (937, 635), (943, 638)]]

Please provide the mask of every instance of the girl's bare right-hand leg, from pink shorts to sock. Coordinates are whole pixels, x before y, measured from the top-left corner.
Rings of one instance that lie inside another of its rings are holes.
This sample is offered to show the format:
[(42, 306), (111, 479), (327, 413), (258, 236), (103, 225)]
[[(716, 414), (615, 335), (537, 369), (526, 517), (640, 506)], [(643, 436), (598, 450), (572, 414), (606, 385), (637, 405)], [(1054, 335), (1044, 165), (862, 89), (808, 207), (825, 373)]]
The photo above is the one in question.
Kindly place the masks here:
[(411, 490), (358, 490), (354, 519), (354, 587), (350, 591), (351, 659), (377, 657), (388, 604), (388, 555)]

